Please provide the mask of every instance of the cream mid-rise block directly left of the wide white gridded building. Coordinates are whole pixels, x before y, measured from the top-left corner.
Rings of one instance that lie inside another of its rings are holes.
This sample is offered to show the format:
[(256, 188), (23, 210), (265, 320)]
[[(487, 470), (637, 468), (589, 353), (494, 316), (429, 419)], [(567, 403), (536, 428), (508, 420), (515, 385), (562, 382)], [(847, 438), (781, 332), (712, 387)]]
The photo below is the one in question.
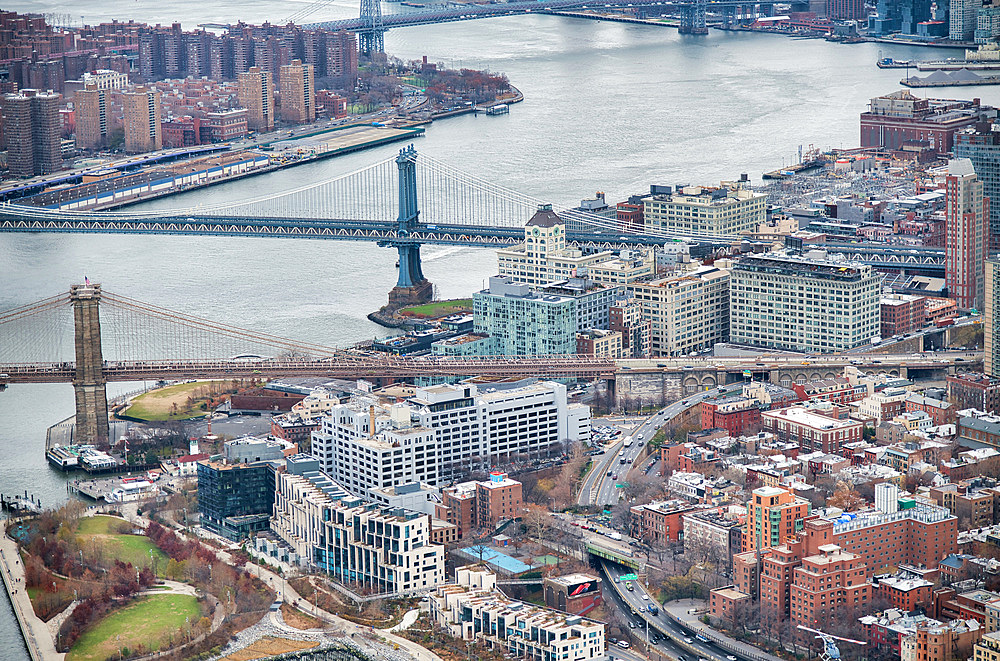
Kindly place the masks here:
[(650, 322), (653, 356), (679, 356), (729, 338), (729, 270), (692, 264), (678, 274), (631, 285)]

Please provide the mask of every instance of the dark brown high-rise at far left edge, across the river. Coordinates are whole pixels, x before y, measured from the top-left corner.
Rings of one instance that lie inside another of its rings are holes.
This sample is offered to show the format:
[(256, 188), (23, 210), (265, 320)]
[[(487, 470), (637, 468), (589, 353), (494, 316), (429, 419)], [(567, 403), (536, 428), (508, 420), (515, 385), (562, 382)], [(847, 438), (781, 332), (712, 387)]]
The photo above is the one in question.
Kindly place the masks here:
[(21, 90), (0, 97), (7, 167), (17, 177), (49, 174), (62, 167), (59, 105), (62, 95)]

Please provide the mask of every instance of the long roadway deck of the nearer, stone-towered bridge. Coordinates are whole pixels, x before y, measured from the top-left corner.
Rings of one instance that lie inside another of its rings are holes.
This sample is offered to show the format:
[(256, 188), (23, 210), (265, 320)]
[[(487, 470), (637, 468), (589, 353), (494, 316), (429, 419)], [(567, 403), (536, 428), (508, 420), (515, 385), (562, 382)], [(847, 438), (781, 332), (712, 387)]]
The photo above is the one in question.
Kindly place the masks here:
[[(690, 370), (735, 372), (808, 365), (809, 369), (842, 369), (855, 365), (866, 371), (906, 368), (972, 367), (981, 354), (947, 352), (904, 355), (830, 355), (810, 357), (767, 356), (740, 358), (661, 358), (651, 360), (610, 360), (588, 356), (491, 357), (491, 358), (404, 358), (396, 356), (344, 356), (314, 360), (260, 361), (107, 361), (103, 373), (107, 381), (156, 379), (234, 378), (279, 376), (322, 376), (329, 378), (407, 378), (418, 376), (494, 376), (611, 379), (642, 372), (686, 373)], [(67, 383), (75, 376), (71, 362), (0, 363), (0, 384)]]

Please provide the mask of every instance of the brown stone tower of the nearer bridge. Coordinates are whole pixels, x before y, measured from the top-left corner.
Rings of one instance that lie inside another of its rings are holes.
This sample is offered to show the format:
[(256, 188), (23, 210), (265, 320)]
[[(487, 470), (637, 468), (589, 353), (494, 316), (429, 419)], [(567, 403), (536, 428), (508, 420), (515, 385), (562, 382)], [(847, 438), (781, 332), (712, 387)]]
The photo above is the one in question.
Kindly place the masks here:
[(108, 392), (101, 353), (100, 285), (73, 285), (69, 292), (73, 305), (76, 374), (76, 443), (99, 447), (109, 445)]

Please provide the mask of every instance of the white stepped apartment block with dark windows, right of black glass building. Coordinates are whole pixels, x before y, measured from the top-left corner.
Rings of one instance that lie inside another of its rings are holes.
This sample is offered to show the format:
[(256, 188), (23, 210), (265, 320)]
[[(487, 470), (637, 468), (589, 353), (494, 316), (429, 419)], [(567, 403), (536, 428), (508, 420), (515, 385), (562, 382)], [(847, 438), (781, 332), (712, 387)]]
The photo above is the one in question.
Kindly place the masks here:
[(443, 582), (444, 547), (430, 542), (429, 516), (353, 496), (309, 455), (286, 464), (275, 476), (271, 530), (303, 564), (380, 594)]

